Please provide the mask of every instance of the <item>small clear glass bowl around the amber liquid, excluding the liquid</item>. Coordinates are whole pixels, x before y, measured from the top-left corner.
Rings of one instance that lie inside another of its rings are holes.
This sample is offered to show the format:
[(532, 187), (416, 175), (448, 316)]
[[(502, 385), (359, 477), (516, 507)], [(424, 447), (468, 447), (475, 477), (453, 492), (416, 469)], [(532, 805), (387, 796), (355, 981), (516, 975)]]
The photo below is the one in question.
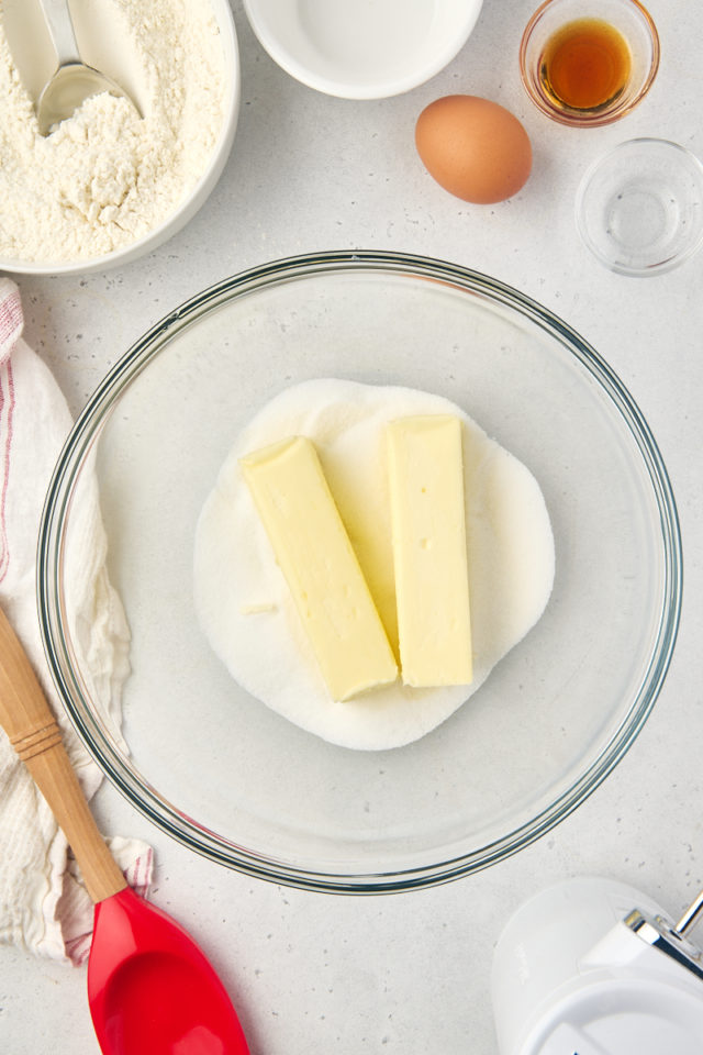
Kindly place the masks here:
[[(556, 99), (542, 79), (545, 47), (570, 22), (595, 19), (620, 31), (631, 53), (631, 70), (622, 91), (600, 106), (569, 107)], [(527, 23), (520, 45), (520, 73), (527, 95), (553, 121), (584, 129), (611, 124), (640, 102), (659, 68), (659, 35), (638, 0), (546, 0)]]

